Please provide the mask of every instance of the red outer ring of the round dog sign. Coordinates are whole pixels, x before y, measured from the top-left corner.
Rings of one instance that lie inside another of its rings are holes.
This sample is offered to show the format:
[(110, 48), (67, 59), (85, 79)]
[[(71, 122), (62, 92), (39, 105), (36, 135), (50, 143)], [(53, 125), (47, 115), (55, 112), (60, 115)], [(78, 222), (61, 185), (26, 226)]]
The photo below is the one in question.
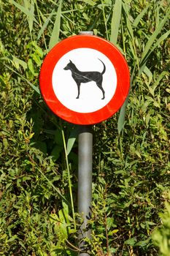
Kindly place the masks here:
[[(66, 108), (55, 96), (53, 91), (53, 69), (63, 55), (77, 48), (91, 48), (103, 53), (112, 62), (117, 74), (117, 88), (112, 99), (99, 110), (91, 113), (79, 113)], [(130, 87), (128, 64), (115, 45), (101, 37), (92, 35), (77, 35), (63, 39), (53, 47), (43, 61), (39, 74), (39, 84), (42, 97), (55, 115), (73, 124), (97, 124), (113, 116), (123, 105)]]

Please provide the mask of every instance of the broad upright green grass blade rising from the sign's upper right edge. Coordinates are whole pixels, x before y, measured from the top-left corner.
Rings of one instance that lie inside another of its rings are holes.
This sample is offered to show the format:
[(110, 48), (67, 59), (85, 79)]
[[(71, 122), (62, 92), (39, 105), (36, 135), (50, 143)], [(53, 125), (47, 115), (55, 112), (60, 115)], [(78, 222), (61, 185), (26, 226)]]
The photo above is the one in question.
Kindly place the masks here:
[(110, 42), (112, 42), (113, 44), (117, 43), (121, 13), (122, 13), (122, 0), (116, 0), (113, 8), (113, 12), (112, 12), (111, 36), (110, 36)]

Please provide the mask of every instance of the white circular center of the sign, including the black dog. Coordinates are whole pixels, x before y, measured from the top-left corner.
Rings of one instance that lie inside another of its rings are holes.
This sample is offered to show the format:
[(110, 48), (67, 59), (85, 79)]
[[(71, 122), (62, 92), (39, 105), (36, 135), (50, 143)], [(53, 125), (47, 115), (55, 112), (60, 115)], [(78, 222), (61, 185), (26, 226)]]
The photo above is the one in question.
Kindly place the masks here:
[(91, 48), (64, 54), (55, 65), (53, 91), (69, 110), (92, 113), (104, 108), (115, 94), (117, 75), (112, 62)]

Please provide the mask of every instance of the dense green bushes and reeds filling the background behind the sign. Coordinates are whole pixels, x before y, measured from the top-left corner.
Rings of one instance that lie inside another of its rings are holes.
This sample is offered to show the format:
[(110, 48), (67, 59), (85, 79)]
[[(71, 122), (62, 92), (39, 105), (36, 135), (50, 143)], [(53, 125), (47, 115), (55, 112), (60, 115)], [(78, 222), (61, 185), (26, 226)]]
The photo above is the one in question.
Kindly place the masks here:
[(131, 92), (93, 126), (90, 255), (169, 256), (169, 1), (0, 6), (0, 255), (77, 255), (78, 130), (45, 105), (39, 70), (56, 42), (93, 31), (125, 56)]

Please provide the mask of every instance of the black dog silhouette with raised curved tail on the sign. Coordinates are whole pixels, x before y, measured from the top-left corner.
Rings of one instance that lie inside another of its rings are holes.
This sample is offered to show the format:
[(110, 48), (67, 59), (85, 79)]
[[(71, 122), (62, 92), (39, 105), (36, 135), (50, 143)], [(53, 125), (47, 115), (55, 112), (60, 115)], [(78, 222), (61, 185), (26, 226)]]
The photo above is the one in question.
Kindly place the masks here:
[[(101, 60), (99, 59), (99, 61), (101, 61)], [(101, 62), (104, 65), (103, 61), (101, 61)], [(77, 95), (76, 99), (79, 99), (79, 96), (80, 96), (81, 83), (88, 83), (91, 81), (96, 82), (96, 85), (98, 86), (99, 89), (101, 89), (101, 91), (103, 93), (102, 99), (105, 98), (105, 91), (102, 87), (103, 75), (104, 75), (104, 72), (106, 71), (105, 65), (104, 65), (104, 70), (102, 72), (98, 72), (98, 71), (83, 71), (82, 72), (79, 69), (77, 69), (75, 64), (70, 60), (69, 63), (66, 65), (66, 67), (64, 67), (64, 70), (71, 70), (72, 78), (77, 83), (78, 95)]]

